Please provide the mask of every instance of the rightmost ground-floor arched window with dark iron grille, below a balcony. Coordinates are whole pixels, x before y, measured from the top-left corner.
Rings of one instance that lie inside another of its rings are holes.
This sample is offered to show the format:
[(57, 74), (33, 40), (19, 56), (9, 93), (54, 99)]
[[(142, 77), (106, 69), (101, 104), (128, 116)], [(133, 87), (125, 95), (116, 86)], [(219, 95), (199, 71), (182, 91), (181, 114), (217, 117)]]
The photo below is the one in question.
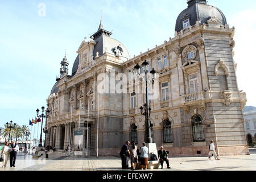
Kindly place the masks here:
[(192, 117), (193, 142), (204, 142), (203, 118), (200, 114)]

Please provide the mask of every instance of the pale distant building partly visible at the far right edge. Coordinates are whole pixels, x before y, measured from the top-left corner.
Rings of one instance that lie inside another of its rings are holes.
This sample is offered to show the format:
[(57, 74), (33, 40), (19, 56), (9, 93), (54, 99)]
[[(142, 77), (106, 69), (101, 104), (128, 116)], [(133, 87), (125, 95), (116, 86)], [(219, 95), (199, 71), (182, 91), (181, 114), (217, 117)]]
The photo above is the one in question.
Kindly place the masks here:
[(251, 145), (256, 142), (256, 111), (248, 111), (243, 113), (245, 119), (245, 134), (247, 143)]

